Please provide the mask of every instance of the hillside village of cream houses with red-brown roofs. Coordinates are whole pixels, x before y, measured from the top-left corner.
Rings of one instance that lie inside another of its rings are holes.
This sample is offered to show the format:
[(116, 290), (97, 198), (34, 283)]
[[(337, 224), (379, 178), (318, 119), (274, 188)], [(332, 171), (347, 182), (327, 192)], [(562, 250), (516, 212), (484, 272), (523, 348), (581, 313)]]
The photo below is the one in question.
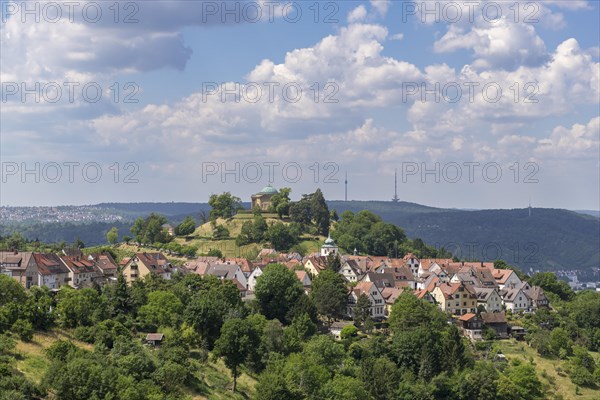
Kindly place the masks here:
[[(254, 289), (265, 267), (279, 263), (294, 271), (307, 294), (312, 280), (328, 268), (333, 258), (339, 260), (338, 273), (347, 283), (348, 297), (345, 320), (355, 317), (361, 295), (367, 296), (374, 321), (385, 321), (396, 299), (405, 291), (437, 305), (453, 317), (463, 334), (482, 339), (483, 325), (496, 331), (499, 338), (511, 333), (505, 313), (531, 313), (549, 302), (540, 287), (530, 286), (511, 269), (496, 269), (490, 262), (463, 262), (452, 259), (418, 259), (413, 254), (389, 258), (342, 254), (331, 237), (319, 253), (277, 253), (263, 249), (257, 259), (201, 256), (173, 265), (162, 252), (139, 252), (117, 263), (108, 253), (84, 255), (80, 250), (62, 254), (3, 251), (0, 252), (1, 273), (17, 280), (24, 288), (46, 286), (58, 291), (68, 285), (85, 288), (115, 283), (122, 273), (126, 282), (153, 274), (171, 279), (173, 274), (212, 275), (235, 283), (244, 301), (254, 298)], [(343, 326), (339, 321), (332, 327)]]

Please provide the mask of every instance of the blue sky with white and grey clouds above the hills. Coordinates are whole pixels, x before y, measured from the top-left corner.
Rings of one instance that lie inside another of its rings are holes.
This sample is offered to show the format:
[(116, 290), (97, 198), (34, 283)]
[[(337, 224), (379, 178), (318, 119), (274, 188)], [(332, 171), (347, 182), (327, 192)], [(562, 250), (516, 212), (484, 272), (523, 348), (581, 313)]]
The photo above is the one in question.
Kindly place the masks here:
[(600, 209), (596, 1), (0, 5), (0, 205)]

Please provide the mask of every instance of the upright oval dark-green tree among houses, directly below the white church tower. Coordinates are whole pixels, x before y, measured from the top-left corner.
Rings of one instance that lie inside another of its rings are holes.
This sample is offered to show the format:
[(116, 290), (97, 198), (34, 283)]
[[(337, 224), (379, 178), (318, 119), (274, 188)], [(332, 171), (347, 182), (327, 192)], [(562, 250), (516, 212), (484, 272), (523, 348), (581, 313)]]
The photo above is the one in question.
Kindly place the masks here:
[(331, 324), (335, 318), (342, 316), (346, 308), (348, 289), (340, 274), (326, 269), (313, 280), (310, 296), (317, 312)]

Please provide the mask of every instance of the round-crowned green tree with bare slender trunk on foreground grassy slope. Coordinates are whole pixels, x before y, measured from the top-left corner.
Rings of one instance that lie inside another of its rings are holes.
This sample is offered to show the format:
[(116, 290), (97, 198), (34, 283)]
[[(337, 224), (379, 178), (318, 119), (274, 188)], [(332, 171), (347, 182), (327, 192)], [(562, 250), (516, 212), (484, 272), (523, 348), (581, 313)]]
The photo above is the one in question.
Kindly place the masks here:
[(258, 333), (248, 320), (232, 318), (221, 328), (221, 336), (215, 342), (214, 354), (225, 362), (233, 375), (233, 392), (236, 390), (238, 368), (260, 344)]

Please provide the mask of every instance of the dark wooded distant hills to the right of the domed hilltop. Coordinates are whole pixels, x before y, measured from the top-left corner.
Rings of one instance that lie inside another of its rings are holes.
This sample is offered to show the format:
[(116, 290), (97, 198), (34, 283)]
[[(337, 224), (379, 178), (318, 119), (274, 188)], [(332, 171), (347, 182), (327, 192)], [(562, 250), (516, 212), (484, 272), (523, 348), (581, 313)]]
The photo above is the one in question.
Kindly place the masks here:
[(533, 208), (529, 216), (528, 209), (464, 211), (376, 201), (333, 201), (329, 207), (338, 213), (370, 210), (459, 258), (501, 258), (527, 272), (600, 267), (600, 219), (587, 214)]

